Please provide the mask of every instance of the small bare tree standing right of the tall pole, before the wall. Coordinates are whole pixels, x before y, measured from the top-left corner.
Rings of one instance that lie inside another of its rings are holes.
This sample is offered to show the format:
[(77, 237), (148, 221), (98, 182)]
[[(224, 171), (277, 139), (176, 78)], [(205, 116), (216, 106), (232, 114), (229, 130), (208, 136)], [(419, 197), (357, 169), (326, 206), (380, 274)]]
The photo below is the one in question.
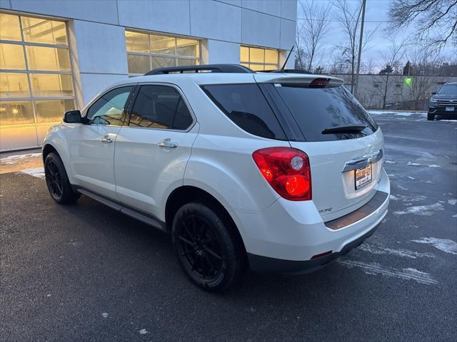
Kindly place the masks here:
[(396, 86), (391, 76), (401, 75), (403, 72), (403, 56), (405, 56), (406, 41), (397, 42), (395, 38), (389, 39), (388, 50), (381, 53), (383, 69), (379, 72), (380, 76), (376, 79), (378, 95), (382, 98), (382, 109), (386, 109), (387, 100), (391, 98), (393, 88)]

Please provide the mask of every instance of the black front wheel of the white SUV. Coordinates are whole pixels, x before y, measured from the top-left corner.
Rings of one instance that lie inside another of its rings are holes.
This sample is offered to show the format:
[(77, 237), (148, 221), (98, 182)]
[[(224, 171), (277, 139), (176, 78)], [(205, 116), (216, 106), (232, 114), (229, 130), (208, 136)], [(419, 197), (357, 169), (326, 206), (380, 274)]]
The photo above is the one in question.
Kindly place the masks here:
[(74, 192), (71, 188), (64, 163), (54, 152), (49, 153), (44, 160), (44, 175), (49, 194), (57, 203), (74, 203), (81, 196), (79, 192)]

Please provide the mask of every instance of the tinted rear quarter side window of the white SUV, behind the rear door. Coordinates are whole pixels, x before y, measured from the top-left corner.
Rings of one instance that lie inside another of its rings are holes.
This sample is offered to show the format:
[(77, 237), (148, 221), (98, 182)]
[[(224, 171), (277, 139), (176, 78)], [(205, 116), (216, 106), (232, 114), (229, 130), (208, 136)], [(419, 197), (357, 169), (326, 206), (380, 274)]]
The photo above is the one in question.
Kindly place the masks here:
[(256, 84), (221, 84), (203, 88), (233, 123), (246, 132), (286, 140), (281, 125)]

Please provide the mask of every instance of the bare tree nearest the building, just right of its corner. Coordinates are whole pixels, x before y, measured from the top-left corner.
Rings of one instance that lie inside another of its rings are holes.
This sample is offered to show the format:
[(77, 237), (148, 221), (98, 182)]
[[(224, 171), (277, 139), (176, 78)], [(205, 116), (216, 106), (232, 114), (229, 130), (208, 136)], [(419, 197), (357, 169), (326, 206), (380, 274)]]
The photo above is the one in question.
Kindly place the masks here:
[(297, 30), (297, 58), (301, 68), (313, 71), (321, 63), (323, 38), (328, 33), (331, 5), (321, 6), (316, 1), (298, 1), (303, 20)]

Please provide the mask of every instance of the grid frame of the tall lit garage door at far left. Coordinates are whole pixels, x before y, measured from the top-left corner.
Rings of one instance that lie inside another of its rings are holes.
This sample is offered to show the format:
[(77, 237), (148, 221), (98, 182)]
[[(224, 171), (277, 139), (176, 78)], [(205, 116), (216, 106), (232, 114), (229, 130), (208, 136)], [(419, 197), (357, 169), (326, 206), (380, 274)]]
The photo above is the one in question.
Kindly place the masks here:
[[(1, 9), (0, 10), (1, 14), (9, 14), (12, 16), (17, 16), (19, 19), (19, 30), (21, 33), (21, 40), (20, 41), (11, 41), (7, 39), (0, 39), (0, 43), (5, 43), (5, 44), (10, 44), (10, 45), (16, 45), (16, 46), (21, 46), (22, 51), (24, 53), (24, 62), (25, 62), (25, 67), (24, 69), (0, 69), (1, 73), (24, 73), (26, 74), (27, 81), (29, 83), (29, 96), (19, 96), (19, 97), (11, 97), (11, 98), (1, 98), (1, 101), (30, 101), (31, 102), (31, 110), (34, 118), (33, 123), (18, 123), (18, 124), (11, 124), (11, 125), (3, 125), (1, 126), (2, 128), (14, 128), (14, 127), (24, 127), (24, 126), (30, 126), (34, 125), (35, 127), (38, 126), (43, 126), (43, 125), (53, 125), (58, 121), (49, 121), (49, 122), (40, 122), (39, 121), (39, 115), (36, 113), (36, 101), (40, 100), (73, 100), (74, 101), (74, 107), (77, 107), (78, 103), (78, 96), (76, 93), (76, 83), (75, 83), (75, 77), (74, 77), (74, 66), (73, 66), (73, 53), (71, 51), (71, 46), (70, 46), (70, 41), (69, 41), (69, 21), (68, 20), (63, 20), (59, 18), (54, 18), (54, 17), (47, 17), (47, 16), (39, 16), (39, 15), (34, 15), (34, 14), (26, 14), (24, 12), (16, 12), (16, 11), (6, 11)], [(61, 45), (61, 44), (51, 44), (51, 43), (35, 43), (31, 41), (26, 41), (24, 38), (24, 29), (23, 29), (23, 24), (21, 17), (31, 17), (31, 18), (36, 18), (36, 19), (43, 19), (43, 20), (51, 20), (51, 21), (60, 21), (65, 24), (65, 34), (66, 34), (66, 41), (67, 45)], [(26, 47), (27, 46), (39, 46), (39, 47), (45, 47), (45, 48), (64, 48), (68, 51), (69, 53), (69, 71), (46, 71), (46, 70), (37, 70), (37, 69), (31, 69), (29, 66), (29, 56), (26, 52)], [(73, 95), (61, 95), (61, 96), (36, 96), (34, 95), (33, 87), (32, 87), (32, 74), (52, 74), (52, 75), (69, 75), (71, 76), (71, 85), (73, 86)], [(63, 116), (63, 113), (62, 113)]]

